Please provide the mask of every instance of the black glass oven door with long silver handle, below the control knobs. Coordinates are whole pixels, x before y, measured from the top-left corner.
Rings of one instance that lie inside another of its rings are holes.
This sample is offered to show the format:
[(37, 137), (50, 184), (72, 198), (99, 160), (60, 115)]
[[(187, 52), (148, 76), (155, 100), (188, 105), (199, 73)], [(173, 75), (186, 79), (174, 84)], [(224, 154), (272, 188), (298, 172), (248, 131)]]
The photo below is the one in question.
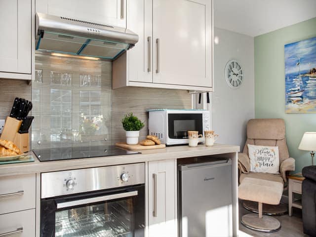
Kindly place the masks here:
[(144, 237), (144, 186), (41, 200), (41, 237)]

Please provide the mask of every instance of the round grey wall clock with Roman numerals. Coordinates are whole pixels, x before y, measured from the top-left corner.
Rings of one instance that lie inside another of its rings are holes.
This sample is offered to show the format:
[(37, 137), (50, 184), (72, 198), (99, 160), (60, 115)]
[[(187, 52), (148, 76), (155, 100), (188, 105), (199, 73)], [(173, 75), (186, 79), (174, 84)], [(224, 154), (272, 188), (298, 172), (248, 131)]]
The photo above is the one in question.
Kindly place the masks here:
[(232, 88), (238, 88), (243, 81), (243, 70), (236, 60), (230, 60), (225, 67), (225, 79)]

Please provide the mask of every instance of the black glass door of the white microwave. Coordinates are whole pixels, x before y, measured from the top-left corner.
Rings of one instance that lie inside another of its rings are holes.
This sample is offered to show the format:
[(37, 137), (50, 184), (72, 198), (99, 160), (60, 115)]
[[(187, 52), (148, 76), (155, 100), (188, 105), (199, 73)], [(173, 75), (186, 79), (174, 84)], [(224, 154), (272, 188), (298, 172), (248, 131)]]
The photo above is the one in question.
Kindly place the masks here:
[(203, 134), (202, 114), (168, 114), (169, 138), (188, 139), (188, 131)]

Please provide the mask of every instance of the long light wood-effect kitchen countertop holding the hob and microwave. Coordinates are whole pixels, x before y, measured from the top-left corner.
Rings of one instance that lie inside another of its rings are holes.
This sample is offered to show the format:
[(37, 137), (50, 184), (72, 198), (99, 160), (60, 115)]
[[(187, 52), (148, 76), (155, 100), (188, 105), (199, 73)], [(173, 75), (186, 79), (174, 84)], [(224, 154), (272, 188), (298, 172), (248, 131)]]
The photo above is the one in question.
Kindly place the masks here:
[(35, 159), (34, 162), (0, 165), (0, 177), (9, 175), (51, 172), (58, 170), (82, 169), (126, 163), (138, 163), (153, 160), (199, 157), (234, 152), (239, 152), (239, 146), (214, 144), (214, 146), (212, 147), (206, 147), (205, 145), (198, 145), (194, 148), (189, 146), (173, 146), (166, 147), (164, 149), (145, 150), (141, 151), (142, 154), (135, 155), (80, 158), (46, 162), (40, 162), (38, 158), (33, 155)]

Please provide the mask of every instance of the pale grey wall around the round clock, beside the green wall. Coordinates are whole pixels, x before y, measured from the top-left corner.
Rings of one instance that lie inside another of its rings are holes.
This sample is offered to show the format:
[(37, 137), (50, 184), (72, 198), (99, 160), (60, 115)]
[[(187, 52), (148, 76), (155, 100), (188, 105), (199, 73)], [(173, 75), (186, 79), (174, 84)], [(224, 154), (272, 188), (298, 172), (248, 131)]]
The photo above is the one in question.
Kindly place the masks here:
[[(239, 145), (243, 149), (246, 123), (255, 117), (254, 38), (215, 28), (214, 88), (211, 93), (212, 128), (219, 134), (217, 143)], [(236, 59), (242, 66), (244, 81), (238, 89), (226, 83), (226, 63)]]

